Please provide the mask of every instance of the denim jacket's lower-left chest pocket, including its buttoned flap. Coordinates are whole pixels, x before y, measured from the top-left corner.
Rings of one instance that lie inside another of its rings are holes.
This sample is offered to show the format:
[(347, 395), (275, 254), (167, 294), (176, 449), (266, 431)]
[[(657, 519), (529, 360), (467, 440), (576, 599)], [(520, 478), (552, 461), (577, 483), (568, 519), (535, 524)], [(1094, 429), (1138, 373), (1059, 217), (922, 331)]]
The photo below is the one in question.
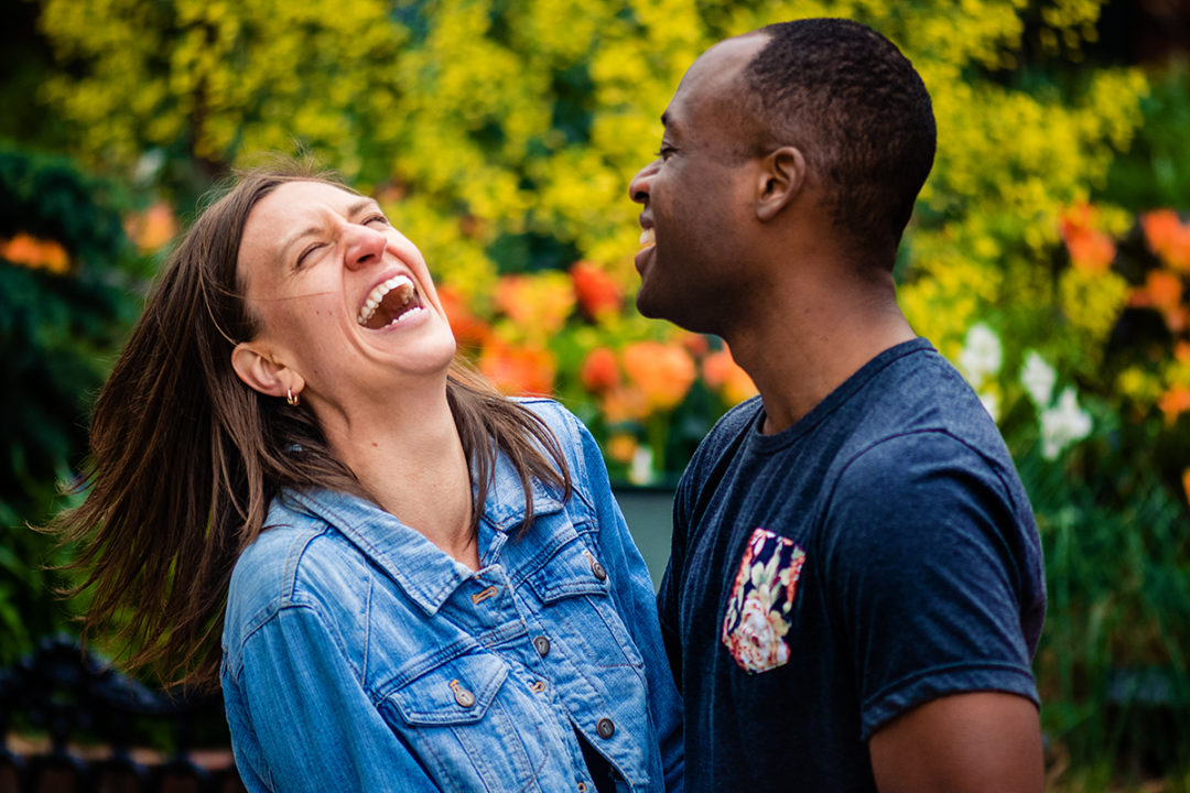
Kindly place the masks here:
[(550, 739), (520, 706), (508, 667), (462, 655), (393, 691), (389, 726), (444, 791), (538, 791)]

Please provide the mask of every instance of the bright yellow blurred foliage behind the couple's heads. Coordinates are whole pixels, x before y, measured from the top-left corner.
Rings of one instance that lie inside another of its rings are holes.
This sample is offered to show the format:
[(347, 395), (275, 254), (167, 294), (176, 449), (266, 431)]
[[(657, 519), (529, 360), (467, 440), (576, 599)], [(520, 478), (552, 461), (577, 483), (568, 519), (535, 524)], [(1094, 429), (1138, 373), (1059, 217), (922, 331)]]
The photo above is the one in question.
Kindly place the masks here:
[[(1016, 68), (1026, 18), (1042, 21), (1032, 44), (1077, 59), (1102, 5), (40, 0), (40, 27), (69, 67), (45, 95), (77, 125), (75, 155), (131, 172), (146, 150), (182, 151), (217, 171), (259, 150), (302, 149), (377, 194), (436, 277), (490, 317), (494, 244), (516, 235), (552, 238), (631, 295), (638, 208), (626, 187), (701, 51), (774, 21), (859, 19), (906, 51), (933, 97), (938, 156), (900, 294), (915, 329), (954, 357), (988, 316), (1014, 317), (1022, 333), (1053, 327), (1066, 334), (1054, 345), (1090, 348), (1126, 298), (1110, 273), (1056, 282), (1052, 272), (1061, 213), (1086, 202), (1129, 144), (1145, 77), (1100, 69), (1077, 95), (972, 77)], [(1095, 233), (1119, 238), (1129, 222), (1100, 207)], [(571, 344), (585, 353), (669, 334), (627, 310), (572, 329)], [(1017, 352), (1045, 344), (1003, 335)], [(503, 351), (488, 365), (515, 382), (527, 360)], [(560, 382), (574, 379), (566, 366)]]

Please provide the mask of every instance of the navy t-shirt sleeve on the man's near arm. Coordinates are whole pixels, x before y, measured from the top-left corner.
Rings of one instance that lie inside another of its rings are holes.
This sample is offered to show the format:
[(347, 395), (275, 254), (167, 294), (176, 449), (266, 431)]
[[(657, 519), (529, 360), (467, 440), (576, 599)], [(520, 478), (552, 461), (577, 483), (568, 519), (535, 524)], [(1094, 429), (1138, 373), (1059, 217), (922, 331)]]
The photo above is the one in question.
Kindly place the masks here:
[(995, 468), (941, 432), (882, 441), (840, 473), (823, 516), (826, 593), (858, 681), (862, 737), (948, 694), (1038, 703), (1022, 615), (1023, 533)]

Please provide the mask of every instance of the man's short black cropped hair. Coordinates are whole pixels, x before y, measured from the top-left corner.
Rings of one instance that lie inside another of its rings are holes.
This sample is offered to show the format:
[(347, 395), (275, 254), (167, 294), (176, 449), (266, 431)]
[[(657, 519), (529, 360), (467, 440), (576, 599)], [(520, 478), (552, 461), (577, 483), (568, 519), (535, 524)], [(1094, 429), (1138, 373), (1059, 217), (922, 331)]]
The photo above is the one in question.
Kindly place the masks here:
[(769, 42), (743, 78), (747, 107), (770, 138), (764, 145), (802, 151), (834, 194), (834, 222), (859, 250), (895, 251), (934, 162), (934, 112), (921, 77), (895, 44), (851, 20), (758, 32)]

